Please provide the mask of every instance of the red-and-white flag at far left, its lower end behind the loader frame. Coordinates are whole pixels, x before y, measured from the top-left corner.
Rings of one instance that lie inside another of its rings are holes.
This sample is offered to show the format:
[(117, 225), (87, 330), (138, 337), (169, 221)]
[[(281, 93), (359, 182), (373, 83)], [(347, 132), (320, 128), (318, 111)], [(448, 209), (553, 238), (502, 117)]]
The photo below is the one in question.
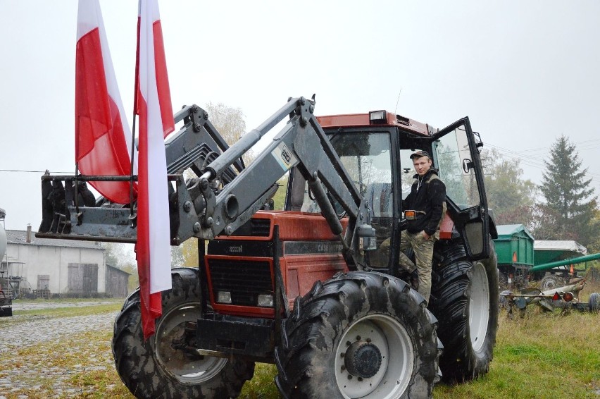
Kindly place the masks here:
[[(75, 162), (85, 175), (128, 176), (131, 130), (125, 118), (98, 0), (79, 0), (75, 61)], [(134, 174), (137, 166), (134, 165)], [(119, 204), (128, 182), (89, 182)]]

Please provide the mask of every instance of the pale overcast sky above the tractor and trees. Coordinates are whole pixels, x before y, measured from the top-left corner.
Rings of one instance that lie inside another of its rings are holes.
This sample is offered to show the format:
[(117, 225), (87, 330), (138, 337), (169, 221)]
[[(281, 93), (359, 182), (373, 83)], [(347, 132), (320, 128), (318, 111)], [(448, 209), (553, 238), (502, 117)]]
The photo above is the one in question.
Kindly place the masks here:
[[(522, 159), (535, 183), (549, 147), (568, 135), (600, 193), (600, 1), (159, 5), (174, 110), (223, 102), (244, 111), (250, 130), (288, 97), (316, 93), (318, 115), (387, 109), (437, 128), (469, 116), (487, 148)], [(137, 1), (101, 7), (131, 110)], [(7, 228), (37, 230), (39, 176), (75, 169), (76, 25), (76, 0), (0, 0)]]

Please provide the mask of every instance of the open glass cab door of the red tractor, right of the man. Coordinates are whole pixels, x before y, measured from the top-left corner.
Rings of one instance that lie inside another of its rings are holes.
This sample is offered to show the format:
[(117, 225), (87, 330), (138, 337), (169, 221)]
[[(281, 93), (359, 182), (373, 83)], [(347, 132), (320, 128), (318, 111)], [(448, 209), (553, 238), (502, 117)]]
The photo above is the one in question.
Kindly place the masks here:
[(489, 257), (489, 218), (483, 170), (482, 146), (471, 130), (468, 117), (432, 135), (435, 164), (446, 185), (447, 204), (454, 226), (463, 238), (471, 260)]

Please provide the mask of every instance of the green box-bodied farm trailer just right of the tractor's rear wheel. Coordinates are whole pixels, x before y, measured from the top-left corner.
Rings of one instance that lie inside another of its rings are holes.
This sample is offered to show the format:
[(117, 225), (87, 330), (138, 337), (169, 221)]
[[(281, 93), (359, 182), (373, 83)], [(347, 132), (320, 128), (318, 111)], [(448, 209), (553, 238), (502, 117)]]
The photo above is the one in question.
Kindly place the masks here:
[(522, 224), (496, 226), (494, 240), (501, 289), (527, 286), (527, 275), (534, 266), (534, 238)]

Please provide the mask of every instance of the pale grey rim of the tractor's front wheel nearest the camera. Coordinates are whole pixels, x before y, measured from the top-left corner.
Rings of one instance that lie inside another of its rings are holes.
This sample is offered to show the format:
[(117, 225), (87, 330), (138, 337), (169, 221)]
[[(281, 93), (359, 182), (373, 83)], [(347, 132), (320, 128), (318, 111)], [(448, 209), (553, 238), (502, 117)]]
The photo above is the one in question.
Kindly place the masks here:
[[(380, 353), (377, 372), (369, 378), (352, 375), (346, 369), (346, 351), (357, 341), (376, 347)], [(346, 329), (335, 352), (339, 391), (344, 398), (399, 398), (411, 381), (414, 358), (411, 336), (399, 321), (384, 314), (363, 317)]]

